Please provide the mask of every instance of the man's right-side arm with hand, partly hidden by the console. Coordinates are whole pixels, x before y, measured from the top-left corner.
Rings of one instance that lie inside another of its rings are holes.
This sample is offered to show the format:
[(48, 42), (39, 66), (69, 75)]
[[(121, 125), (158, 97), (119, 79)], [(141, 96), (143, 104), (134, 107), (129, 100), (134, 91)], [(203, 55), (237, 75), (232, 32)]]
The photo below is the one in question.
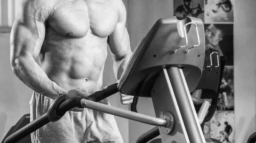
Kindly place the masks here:
[[(122, 3), (122, 0), (117, 2), (119, 8), (119, 20), (116, 25), (116, 29), (113, 33), (108, 36), (108, 45), (111, 50), (111, 55), (113, 56), (113, 72), (116, 80), (119, 80), (122, 76), (125, 67), (131, 58), (131, 46), (130, 39), (127, 29), (125, 28), (126, 22), (126, 10)], [(133, 96), (121, 95), (122, 104), (132, 103)]]

